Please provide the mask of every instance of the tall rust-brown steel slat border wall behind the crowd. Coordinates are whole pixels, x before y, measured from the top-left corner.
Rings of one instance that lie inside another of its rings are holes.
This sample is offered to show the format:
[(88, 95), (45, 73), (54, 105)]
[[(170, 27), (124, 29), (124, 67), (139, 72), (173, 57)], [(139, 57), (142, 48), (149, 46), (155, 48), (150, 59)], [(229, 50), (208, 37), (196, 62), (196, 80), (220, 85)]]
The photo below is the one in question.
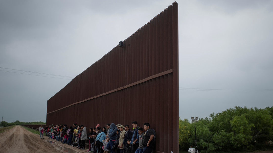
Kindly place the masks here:
[[(127, 27), (126, 27), (127, 28)], [(47, 124), (156, 130), (155, 152), (178, 152), (178, 4), (170, 5), (48, 100)]]

